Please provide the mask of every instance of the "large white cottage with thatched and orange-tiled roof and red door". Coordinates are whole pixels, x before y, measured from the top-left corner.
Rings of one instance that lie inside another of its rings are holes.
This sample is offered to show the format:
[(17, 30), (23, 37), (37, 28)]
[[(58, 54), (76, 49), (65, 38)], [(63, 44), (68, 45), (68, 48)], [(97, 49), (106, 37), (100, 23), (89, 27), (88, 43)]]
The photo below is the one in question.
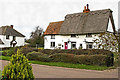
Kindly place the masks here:
[(115, 32), (112, 10), (68, 14), (64, 21), (51, 22), (44, 32), (44, 49), (96, 49), (93, 42), (103, 32)]

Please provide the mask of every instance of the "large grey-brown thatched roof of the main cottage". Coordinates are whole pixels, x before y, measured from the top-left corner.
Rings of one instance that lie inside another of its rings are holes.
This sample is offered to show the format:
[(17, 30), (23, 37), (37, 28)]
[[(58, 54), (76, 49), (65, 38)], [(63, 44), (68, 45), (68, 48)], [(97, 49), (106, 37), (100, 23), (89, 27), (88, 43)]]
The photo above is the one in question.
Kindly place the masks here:
[[(112, 19), (112, 11), (110, 9), (68, 14), (65, 16), (59, 34), (105, 32), (107, 31), (110, 17)], [(114, 22), (113, 27), (115, 27)]]

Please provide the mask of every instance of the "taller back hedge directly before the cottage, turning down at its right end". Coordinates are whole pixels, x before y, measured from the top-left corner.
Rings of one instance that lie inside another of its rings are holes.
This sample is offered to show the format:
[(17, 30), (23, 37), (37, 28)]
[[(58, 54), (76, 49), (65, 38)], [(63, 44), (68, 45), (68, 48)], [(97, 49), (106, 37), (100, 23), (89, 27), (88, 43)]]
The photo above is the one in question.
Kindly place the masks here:
[(103, 49), (80, 49), (80, 50), (44, 49), (44, 50), (40, 50), (39, 52), (48, 54), (48, 55), (53, 55), (55, 53), (68, 53), (68, 54), (75, 54), (75, 55), (100, 55), (101, 54), (101, 55), (107, 56), (107, 61), (106, 61), (107, 66), (113, 66), (114, 64), (113, 53), (111, 51), (103, 50)]

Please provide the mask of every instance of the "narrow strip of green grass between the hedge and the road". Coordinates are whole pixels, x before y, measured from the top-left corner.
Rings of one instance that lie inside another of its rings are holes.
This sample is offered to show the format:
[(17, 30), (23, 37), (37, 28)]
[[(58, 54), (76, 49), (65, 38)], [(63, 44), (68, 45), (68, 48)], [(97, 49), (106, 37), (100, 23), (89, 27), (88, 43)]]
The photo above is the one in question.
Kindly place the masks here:
[[(9, 56), (2, 56), (2, 60), (10, 60)], [(72, 64), (72, 63), (63, 63), (63, 62), (40, 62), (40, 61), (29, 61), (32, 64), (41, 64), (48, 66), (58, 66), (58, 67), (67, 67), (67, 68), (77, 68), (77, 69), (89, 69), (89, 70), (106, 70), (109, 67), (106, 66), (93, 66), (93, 65), (83, 65), (83, 64)]]

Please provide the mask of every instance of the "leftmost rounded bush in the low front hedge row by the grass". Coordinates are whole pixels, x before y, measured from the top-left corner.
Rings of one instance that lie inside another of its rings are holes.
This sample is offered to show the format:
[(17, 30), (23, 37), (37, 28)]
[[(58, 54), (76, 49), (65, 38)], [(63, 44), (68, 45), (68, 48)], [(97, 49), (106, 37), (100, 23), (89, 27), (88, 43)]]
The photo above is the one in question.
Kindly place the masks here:
[(29, 60), (37, 60), (37, 61), (43, 61), (43, 62), (49, 62), (51, 59), (49, 58), (49, 55), (43, 54), (41, 52), (30, 52), (26, 55), (26, 57)]

